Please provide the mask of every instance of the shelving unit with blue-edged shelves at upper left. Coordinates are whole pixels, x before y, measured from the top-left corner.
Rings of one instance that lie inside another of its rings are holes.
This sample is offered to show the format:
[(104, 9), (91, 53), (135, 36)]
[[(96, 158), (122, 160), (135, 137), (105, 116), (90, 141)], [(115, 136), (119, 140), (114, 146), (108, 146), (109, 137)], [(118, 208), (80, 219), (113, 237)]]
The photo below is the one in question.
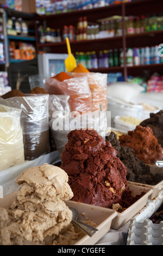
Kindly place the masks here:
[[(22, 42), (31, 42), (32, 44), (35, 45), (35, 14), (28, 14), (28, 13), (23, 13), (21, 11), (16, 11), (8, 8), (1, 8), (3, 11), (3, 23), (4, 23), (4, 36), (5, 36), (5, 57), (6, 61), (4, 65), (0, 63), (0, 68), (1, 66), (5, 66), (5, 71), (8, 72), (8, 80), (9, 80), (9, 85), (11, 86), (12, 89), (16, 88), (16, 83), (17, 83), (17, 78), (18, 78), (18, 72), (20, 72), (21, 76), (24, 75), (36, 75), (38, 74), (38, 69), (37, 69), (37, 58), (33, 60), (22, 60), (22, 59), (10, 59), (9, 56), (9, 44), (10, 41), (22, 41)], [(21, 17), (24, 21), (27, 22), (28, 25), (28, 35), (8, 35), (7, 31), (7, 21), (9, 17), (16, 17), (19, 18)], [(2, 68), (1, 68), (2, 70)], [(28, 77), (22, 82), (21, 88), (23, 87), (24, 93), (29, 92), (29, 81)]]

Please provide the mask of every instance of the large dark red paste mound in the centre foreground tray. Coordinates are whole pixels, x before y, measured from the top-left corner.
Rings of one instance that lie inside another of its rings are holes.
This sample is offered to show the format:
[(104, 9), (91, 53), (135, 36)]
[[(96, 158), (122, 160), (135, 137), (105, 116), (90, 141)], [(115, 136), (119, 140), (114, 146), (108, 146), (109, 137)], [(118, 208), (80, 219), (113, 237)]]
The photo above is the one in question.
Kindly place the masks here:
[(136, 200), (128, 188), (127, 168), (110, 142), (105, 142), (95, 130), (75, 130), (67, 137), (61, 168), (69, 176), (72, 200), (105, 208), (116, 203), (127, 207), (131, 200)]

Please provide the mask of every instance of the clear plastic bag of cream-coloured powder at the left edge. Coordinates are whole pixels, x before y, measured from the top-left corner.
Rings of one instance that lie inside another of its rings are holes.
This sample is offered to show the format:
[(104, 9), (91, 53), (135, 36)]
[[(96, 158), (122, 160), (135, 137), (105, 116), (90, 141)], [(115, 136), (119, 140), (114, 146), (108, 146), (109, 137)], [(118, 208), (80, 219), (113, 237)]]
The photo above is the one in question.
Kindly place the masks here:
[(24, 163), (21, 110), (0, 105), (0, 171)]

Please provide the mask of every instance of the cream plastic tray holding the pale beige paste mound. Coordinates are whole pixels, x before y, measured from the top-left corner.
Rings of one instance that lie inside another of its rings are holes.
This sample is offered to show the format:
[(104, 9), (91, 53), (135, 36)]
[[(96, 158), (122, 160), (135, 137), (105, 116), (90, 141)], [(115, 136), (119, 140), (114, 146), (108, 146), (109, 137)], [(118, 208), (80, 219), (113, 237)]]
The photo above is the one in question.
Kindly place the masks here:
[[(8, 196), (0, 199), (0, 207), (7, 208), (10, 205), (15, 196), (16, 192), (9, 194)], [(73, 201), (66, 202), (68, 207), (72, 207), (78, 210), (79, 212), (79, 220), (83, 220), (82, 214), (85, 213), (87, 217), (90, 218), (91, 221), (97, 224), (97, 233), (92, 237), (88, 235), (83, 235), (81, 239), (79, 239), (74, 245), (95, 245), (95, 243), (100, 240), (109, 230), (111, 226), (111, 222), (114, 217), (117, 215), (117, 212), (111, 209), (102, 208), (99, 206), (83, 204)], [(26, 245), (30, 245), (31, 243), (26, 242)]]

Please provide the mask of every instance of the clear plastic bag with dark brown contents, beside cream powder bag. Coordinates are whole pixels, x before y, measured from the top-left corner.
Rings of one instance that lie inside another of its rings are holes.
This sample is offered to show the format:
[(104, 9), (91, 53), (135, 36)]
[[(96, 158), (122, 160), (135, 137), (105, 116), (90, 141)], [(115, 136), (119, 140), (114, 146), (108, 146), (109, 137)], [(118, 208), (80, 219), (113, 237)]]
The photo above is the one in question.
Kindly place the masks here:
[(34, 160), (50, 152), (48, 100), (48, 94), (0, 99), (2, 105), (22, 110), (25, 160)]

